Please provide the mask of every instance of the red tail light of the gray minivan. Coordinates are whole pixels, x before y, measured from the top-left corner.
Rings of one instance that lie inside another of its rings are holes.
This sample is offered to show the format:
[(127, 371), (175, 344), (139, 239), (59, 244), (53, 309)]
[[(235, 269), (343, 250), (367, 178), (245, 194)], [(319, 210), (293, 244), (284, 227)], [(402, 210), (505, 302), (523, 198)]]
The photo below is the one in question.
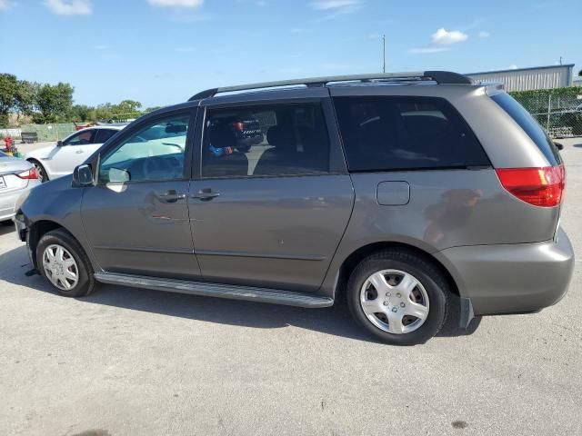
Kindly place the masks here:
[(562, 202), (566, 184), (564, 165), (543, 168), (500, 168), (496, 173), (503, 187), (526, 203), (554, 207)]

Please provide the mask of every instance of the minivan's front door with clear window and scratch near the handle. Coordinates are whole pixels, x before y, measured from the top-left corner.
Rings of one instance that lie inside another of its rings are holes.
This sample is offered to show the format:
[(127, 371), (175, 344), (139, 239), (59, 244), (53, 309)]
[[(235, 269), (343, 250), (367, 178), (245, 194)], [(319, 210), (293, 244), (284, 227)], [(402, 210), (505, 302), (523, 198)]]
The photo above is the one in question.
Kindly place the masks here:
[(187, 206), (192, 117), (185, 110), (146, 119), (102, 152), (98, 183), (85, 188), (82, 216), (105, 271), (199, 275)]

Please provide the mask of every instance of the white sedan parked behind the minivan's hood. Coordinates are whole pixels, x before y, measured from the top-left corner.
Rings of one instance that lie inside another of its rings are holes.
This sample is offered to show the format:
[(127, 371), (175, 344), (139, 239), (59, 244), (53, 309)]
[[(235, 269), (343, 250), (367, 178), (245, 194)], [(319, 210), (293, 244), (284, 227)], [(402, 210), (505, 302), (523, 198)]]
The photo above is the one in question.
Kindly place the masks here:
[(39, 148), (25, 155), (25, 160), (35, 165), (38, 180), (46, 182), (73, 173), (75, 166), (101, 147), (126, 124), (95, 125), (70, 134), (63, 141)]

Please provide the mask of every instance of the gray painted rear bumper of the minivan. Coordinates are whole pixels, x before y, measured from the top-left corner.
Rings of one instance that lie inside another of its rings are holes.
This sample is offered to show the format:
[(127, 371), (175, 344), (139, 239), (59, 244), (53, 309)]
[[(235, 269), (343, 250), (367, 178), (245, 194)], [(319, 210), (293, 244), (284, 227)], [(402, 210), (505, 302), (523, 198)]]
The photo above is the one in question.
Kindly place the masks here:
[(437, 253), (476, 315), (536, 312), (567, 292), (574, 251), (560, 228), (556, 241), (455, 247)]

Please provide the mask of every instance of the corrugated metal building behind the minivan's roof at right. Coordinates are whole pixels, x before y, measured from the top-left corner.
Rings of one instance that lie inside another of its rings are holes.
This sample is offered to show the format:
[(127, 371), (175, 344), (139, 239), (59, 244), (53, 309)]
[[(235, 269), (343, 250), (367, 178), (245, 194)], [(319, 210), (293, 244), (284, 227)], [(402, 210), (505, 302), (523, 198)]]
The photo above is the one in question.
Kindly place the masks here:
[(536, 66), (513, 70), (469, 73), (476, 82), (501, 82), (506, 91), (529, 91), (532, 89), (564, 88), (572, 86), (574, 64)]

